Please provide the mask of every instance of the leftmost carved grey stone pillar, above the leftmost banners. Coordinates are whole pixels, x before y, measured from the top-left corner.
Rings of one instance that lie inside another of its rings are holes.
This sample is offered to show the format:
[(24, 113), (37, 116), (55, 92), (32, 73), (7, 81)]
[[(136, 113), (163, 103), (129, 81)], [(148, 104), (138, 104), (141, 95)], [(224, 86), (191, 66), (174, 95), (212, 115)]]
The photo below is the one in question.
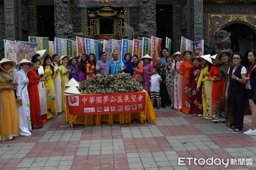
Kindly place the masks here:
[[(7, 40), (17, 40), (17, 1), (4, 0), (5, 31)], [(16, 19), (16, 20), (15, 20)]]

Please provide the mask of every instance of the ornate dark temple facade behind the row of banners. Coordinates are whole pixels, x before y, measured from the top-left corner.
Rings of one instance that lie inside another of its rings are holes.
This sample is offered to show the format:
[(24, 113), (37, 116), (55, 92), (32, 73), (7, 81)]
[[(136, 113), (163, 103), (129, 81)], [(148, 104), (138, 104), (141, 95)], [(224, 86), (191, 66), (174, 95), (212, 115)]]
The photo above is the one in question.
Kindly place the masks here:
[[(194, 42), (204, 39), (207, 48), (219, 30), (231, 33), (234, 52), (244, 55), (256, 49), (255, 0), (0, 0), (0, 38), (54, 40), (64, 37), (64, 31), (72, 37), (86, 37), (94, 23), (90, 20), (95, 19), (90, 15), (106, 2), (122, 16), (116, 24), (126, 26), (126, 37), (136, 39), (147, 30), (148, 37), (163, 39), (162, 47), (169, 37), (172, 53), (180, 49), (181, 36)], [(108, 20), (99, 22), (99, 33), (109, 34)]]

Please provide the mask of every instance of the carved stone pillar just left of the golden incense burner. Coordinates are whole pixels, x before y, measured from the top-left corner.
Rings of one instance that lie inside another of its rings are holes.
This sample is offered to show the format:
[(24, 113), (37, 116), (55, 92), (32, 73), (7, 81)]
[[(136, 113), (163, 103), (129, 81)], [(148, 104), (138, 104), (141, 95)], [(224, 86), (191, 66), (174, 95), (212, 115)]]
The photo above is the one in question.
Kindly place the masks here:
[(54, 0), (55, 37), (63, 38), (63, 32), (73, 33), (73, 24), (70, 24), (70, 1)]

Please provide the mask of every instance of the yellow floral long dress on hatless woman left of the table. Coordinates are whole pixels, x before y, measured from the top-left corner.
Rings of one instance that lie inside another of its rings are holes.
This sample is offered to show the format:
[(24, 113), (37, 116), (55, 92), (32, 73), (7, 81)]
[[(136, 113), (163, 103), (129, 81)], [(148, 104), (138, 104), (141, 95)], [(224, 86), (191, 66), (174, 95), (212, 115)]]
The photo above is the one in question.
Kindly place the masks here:
[(45, 89), (46, 89), (46, 99), (47, 99), (47, 119), (50, 119), (52, 115), (57, 115), (57, 103), (55, 98), (55, 89), (53, 84), (53, 79), (58, 77), (58, 73), (55, 73), (54, 68), (54, 74), (52, 76), (52, 69), (50, 66), (45, 66), (44, 70), (44, 76), (47, 75), (47, 73), (50, 74), (49, 77), (47, 77), (44, 81)]

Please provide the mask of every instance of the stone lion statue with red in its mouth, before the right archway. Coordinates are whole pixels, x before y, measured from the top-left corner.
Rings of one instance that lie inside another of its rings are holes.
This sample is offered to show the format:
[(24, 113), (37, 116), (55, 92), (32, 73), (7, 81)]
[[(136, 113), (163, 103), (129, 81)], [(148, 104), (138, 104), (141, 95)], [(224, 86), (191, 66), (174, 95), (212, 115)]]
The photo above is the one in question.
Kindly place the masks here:
[(215, 55), (220, 53), (221, 51), (231, 51), (231, 40), (230, 40), (231, 33), (227, 32), (226, 30), (219, 30), (214, 34), (214, 41), (210, 45), (210, 54)]

